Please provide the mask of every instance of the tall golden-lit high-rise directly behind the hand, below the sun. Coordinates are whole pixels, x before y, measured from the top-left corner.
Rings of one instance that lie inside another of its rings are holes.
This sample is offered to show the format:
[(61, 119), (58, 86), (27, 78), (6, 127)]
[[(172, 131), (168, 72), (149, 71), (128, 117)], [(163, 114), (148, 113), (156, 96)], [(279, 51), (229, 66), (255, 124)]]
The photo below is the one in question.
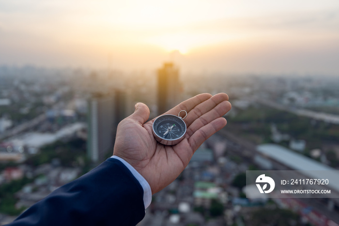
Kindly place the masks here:
[(157, 70), (157, 78), (157, 105), (160, 115), (178, 104), (181, 91), (179, 69), (172, 62), (166, 62), (162, 68)]

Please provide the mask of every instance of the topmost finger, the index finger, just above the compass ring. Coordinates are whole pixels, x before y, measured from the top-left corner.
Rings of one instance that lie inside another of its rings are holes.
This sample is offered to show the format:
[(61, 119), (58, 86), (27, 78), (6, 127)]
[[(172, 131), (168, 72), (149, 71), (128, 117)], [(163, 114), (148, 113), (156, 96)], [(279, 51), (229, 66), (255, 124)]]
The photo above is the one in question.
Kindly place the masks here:
[[(180, 103), (179, 105), (176, 105), (169, 111), (167, 111), (165, 114), (170, 115), (178, 115), (181, 110), (185, 110), (187, 113), (192, 110), (197, 105), (200, 105), (204, 101), (211, 98), (211, 94), (209, 93), (201, 93), (199, 95), (196, 95), (192, 98), (189, 98), (188, 100), (185, 100), (184, 102)], [(187, 115), (188, 116), (188, 115)]]

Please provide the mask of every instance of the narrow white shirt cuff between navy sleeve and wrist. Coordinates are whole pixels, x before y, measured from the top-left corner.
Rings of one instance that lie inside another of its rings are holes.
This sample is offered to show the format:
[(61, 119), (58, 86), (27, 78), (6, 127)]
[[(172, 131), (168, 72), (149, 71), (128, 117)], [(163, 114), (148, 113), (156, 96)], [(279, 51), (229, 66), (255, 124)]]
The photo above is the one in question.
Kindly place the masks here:
[(111, 158), (120, 160), (120, 162), (122, 162), (123, 165), (125, 165), (129, 169), (129, 171), (131, 171), (133, 176), (139, 181), (142, 189), (144, 190), (143, 200), (144, 200), (144, 205), (146, 209), (151, 204), (151, 201), (152, 201), (152, 190), (151, 190), (149, 183), (145, 180), (145, 178), (141, 176), (141, 174), (139, 174), (139, 172), (133, 166), (131, 166), (129, 163), (127, 163), (122, 158), (116, 155), (113, 155)]

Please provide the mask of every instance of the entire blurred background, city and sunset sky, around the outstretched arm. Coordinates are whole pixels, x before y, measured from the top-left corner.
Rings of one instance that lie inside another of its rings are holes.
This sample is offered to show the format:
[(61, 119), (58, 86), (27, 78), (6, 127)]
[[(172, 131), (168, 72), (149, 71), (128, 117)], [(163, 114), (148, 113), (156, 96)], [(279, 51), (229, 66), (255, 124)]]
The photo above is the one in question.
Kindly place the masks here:
[(37, 2), (0, 2), (0, 225), (110, 157), (137, 102), (226, 92), (227, 126), (138, 226), (339, 226), (337, 198), (244, 190), (339, 169), (338, 1)]

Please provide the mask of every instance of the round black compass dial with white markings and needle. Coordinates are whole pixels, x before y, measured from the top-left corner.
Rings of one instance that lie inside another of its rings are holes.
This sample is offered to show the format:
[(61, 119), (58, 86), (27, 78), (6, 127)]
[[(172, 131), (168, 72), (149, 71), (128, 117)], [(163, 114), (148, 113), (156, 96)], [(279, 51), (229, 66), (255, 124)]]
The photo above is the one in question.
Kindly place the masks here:
[(186, 133), (186, 124), (175, 115), (162, 115), (155, 119), (153, 131), (163, 140), (177, 140)]

